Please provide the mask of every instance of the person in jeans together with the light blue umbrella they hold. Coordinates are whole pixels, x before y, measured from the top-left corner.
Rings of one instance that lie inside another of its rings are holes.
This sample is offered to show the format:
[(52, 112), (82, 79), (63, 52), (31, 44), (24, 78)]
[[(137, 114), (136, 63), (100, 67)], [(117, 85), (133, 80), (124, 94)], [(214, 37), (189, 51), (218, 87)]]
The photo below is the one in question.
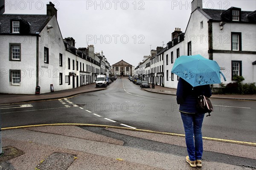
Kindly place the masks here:
[[(210, 85), (220, 83), (220, 67), (217, 62), (200, 55), (181, 56), (176, 59), (172, 73), (180, 76), (177, 85), (177, 103), (185, 130), (186, 147), (189, 156), (186, 162), (191, 167), (202, 166), (204, 114), (196, 109), (197, 97), (212, 95)], [(223, 75), (223, 74), (222, 74)]]

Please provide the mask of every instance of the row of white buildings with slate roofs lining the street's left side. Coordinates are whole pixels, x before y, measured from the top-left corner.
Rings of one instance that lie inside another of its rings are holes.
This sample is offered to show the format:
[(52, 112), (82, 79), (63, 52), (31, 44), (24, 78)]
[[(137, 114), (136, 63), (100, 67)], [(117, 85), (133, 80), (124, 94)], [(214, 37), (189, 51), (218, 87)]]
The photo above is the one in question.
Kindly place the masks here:
[[(54, 4), (46, 15), (0, 15), (0, 93), (35, 94), (76, 88), (95, 82), (104, 68), (93, 45), (75, 48), (63, 40)], [(105, 58), (104, 58), (105, 63)]]

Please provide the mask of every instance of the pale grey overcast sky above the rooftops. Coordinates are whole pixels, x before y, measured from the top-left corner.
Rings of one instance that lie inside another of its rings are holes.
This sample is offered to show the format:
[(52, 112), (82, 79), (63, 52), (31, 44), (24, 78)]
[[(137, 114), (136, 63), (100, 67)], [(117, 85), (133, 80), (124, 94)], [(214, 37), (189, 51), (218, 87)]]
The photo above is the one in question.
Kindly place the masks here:
[[(185, 31), (192, 0), (52, 0), (63, 38), (76, 48), (94, 45), (113, 65), (135, 67), (157, 46), (166, 47), (175, 28)], [(46, 14), (49, 0), (6, 0), (5, 14)], [(255, 0), (203, 0), (203, 8), (255, 11)]]

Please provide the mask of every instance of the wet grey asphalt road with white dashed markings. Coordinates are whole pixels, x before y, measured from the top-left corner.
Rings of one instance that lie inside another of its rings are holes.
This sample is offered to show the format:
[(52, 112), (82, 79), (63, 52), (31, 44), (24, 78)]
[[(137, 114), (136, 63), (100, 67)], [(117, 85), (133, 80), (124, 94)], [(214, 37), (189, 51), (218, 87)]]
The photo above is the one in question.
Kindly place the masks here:
[[(203, 136), (256, 142), (256, 102), (211, 99)], [(1, 105), (1, 127), (51, 123), (113, 125), (184, 134), (176, 96), (143, 91), (127, 78), (68, 99)]]

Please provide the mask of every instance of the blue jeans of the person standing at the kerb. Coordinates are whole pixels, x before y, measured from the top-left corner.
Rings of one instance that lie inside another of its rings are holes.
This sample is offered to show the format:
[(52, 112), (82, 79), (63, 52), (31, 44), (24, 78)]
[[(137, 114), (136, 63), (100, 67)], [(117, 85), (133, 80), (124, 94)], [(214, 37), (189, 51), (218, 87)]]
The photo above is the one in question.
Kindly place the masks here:
[[(204, 113), (181, 113), (190, 161), (201, 160), (203, 155), (202, 124)], [(194, 142), (195, 136), (195, 142)]]

